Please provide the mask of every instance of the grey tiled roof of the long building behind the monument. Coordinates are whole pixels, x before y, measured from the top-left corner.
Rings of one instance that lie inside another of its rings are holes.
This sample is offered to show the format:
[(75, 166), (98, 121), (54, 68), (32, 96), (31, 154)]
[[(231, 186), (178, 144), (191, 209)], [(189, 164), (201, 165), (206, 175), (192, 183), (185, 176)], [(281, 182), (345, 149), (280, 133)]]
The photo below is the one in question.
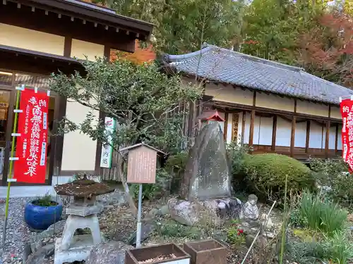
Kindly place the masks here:
[(165, 61), (179, 72), (213, 80), (323, 103), (340, 103), (351, 89), (306, 73), (304, 69), (268, 61), (205, 44), (201, 51), (167, 55)]

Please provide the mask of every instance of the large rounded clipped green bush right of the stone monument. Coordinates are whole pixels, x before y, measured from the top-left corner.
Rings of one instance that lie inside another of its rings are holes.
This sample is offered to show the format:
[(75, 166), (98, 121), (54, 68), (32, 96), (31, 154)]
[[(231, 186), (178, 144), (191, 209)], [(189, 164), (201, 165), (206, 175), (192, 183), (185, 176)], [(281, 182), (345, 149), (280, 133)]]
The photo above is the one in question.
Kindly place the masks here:
[(304, 163), (274, 153), (245, 155), (242, 172), (251, 191), (272, 201), (283, 199), (286, 175), (288, 192), (299, 193), (314, 186), (312, 172)]

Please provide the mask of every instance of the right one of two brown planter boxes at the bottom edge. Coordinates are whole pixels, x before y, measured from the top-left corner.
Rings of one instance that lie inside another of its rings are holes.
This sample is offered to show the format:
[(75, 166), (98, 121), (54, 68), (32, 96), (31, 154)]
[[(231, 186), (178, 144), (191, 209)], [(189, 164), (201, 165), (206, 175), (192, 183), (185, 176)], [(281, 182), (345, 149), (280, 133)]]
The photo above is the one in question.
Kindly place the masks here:
[(227, 264), (227, 248), (215, 239), (184, 244), (191, 264)]

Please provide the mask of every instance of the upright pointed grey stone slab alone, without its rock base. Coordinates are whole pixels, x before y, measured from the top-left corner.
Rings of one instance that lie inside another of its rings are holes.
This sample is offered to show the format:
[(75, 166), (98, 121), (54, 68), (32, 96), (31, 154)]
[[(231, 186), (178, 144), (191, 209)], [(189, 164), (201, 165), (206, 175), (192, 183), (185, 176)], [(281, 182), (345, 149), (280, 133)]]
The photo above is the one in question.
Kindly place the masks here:
[(190, 183), (183, 188), (183, 199), (204, 201), (231, 196), (225, 139), (218, 122), (208, 122), (201, 128), (189, 152), (184, 177)]

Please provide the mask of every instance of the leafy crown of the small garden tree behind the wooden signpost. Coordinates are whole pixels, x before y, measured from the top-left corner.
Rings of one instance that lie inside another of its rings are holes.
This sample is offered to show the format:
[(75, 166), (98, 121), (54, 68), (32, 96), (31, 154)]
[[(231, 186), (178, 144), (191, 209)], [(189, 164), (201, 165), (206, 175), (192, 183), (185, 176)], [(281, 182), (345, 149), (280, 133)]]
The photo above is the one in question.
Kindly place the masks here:
[(176, 75), (160, 73), (154, 64), (136, 65), (126, 60), (107, 63), (100, 58), (83, 65), (86, 75), (76, 72), (52, 76), (51, 87), (56, 93), (89, 109), (80, 123), (65, 118), (63, 132), (78, 130), (107, 144), (110, 135), (104, 133), (104, 120), (94, 113), (102, 111), (119, 123), (119, 129), (111, 135), (115, 150), (143, 141), (170, 153), (179, 151), (184, 142), (184, 112), (177, 109), (179, 103), (198, 98), (197, 87), (181, 84)]

